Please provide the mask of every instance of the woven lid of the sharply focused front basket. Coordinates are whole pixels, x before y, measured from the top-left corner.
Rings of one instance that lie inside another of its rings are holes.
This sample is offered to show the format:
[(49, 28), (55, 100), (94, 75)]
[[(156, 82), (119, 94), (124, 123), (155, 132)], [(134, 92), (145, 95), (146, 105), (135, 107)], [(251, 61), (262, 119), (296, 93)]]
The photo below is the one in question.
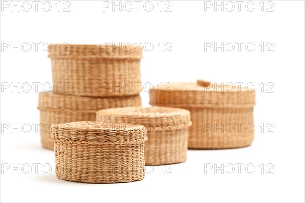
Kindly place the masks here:
[(51, 140), (136, 144), (147, 140), (146, 132), (143, 125), (81, 121), (51, 125)]

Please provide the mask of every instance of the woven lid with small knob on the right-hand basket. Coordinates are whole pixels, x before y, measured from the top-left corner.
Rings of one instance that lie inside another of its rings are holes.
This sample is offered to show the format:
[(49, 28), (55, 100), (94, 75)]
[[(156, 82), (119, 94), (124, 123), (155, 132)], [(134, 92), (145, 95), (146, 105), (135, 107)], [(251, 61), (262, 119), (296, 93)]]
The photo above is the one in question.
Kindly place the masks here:
[(254, 89), (231, 84), (216, 84), (204, 80), (173, 82), (154, 86), (149, 93), (151, 105), (172, 107), (253, 107)]

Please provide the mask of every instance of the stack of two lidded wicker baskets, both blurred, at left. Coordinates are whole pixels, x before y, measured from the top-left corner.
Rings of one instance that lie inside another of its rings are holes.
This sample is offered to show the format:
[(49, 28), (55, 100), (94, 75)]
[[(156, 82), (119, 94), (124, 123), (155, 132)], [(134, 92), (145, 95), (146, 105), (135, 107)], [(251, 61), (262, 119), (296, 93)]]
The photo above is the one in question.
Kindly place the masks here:
[(141, 106), (142, 48), (102, 45), (50, 45), (53, 90), (40, 92), (42, 146), (53, 149), (50, 126), (94, 121), (105, 108)]

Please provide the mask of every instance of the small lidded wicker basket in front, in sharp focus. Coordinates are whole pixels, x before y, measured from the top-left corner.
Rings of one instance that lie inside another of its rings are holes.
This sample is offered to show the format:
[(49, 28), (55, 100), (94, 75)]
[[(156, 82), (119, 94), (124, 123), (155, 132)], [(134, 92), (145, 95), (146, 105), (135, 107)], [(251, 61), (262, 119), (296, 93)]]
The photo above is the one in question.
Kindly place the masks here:
[(51, 126), (56, 176), (86, 183), (117, 183), (145, 176), (146, 128), (123, 123), (72, 122)]

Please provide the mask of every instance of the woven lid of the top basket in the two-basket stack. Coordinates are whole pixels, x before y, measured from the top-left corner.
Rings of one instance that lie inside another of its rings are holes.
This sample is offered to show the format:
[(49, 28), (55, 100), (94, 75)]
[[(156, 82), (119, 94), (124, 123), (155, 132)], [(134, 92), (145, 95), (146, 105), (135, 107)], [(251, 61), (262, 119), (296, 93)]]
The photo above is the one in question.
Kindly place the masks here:
[(50, 58), (106, 58), (106, 59), (141, 59), (143, 48), (136, 44), (120, 45), (79, 45), (51, 44), (48, 47)]

